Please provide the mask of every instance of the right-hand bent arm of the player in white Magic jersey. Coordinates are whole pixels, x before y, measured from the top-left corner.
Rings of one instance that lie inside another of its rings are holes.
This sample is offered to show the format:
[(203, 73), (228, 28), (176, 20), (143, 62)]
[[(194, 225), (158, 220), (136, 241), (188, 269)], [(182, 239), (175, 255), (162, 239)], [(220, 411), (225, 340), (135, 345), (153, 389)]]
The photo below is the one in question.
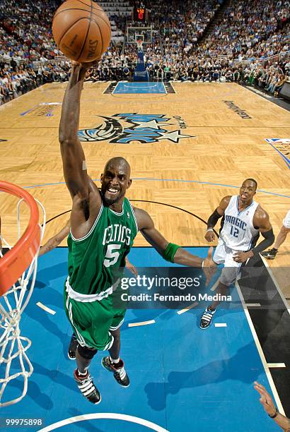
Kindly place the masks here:
[(269, 248), (269, 246), (274, 243), (275, 236), (271, 222), (269, 220), (269, 215), (260, 205), (257, 206), (257, 210), (255, 211), (253, 225), (255, 228), (259, 229), (260, 233), (264, 237), (264, 240), (255, 246), (255, 248), (250, 249), (250, 251), (241, 251), (235, 253), (235, 255), (233, 255), (233, 259), (237, 263), (244, 263), (249, 258), (252, 258), (255, 254), (265, 251), (265, 249)]

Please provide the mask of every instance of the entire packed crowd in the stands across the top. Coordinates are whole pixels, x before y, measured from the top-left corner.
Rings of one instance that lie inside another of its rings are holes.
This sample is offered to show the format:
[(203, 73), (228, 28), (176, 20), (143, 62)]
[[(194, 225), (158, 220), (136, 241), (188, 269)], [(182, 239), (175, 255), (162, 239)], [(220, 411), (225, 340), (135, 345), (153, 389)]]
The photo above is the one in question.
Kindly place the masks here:
[[(134, 0), (130, 2), (134, 4)], [(0, 103), (43, 83), (68, 79), (69, 61), (55, 61), (62, 53), (51, 31), (54, 11), (61, 3), (1, 0)], [(284, 80), (289, 79), (289, 56), (265, 59), (289, 52), (290, 0), (226, 1), (218, 20), (214, 18), (221, 0), (144, 3), (147, 25), (153, 29), (151, 43), (143, 47), (152, 80), (235, 81), (278, 95)], [(125, 32), (126, 25), (140, 25), (124, 14), (111, 13), (110, 19), (120, 32)], [(204, 36), (209, 24), (211, 31)], [(112, 40), (86, 79), (130, 79), (136, 63), (135, 44)]]

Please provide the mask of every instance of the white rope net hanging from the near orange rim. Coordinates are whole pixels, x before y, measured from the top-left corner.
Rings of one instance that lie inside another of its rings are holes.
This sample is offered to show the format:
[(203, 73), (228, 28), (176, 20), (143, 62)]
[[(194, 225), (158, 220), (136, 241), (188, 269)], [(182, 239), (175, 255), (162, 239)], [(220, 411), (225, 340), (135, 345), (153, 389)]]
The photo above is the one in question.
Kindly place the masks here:
[[(20, 207), (23, 201), (21, 199), (17, 204), (18, 239), (21, 237)], [(45, 208), (39, 201), (35, 201), (42, 210), (41, 241), (45, 232)], [(13, 248), (4, 237), (1, 239), (3, 248)], [(1, 250), (0, 256), (3, 257)], [(28, 378), (33, 373), (33, 366), (26, 353), (31, 341), (28, 337), (21, 336), (19, 323), (21, 315), (33, 294), (37, 272), (37, 257), (38, 251), (33, 257), (29, 268), (0, 298), (0, 407), (15, 404), (25, 396), (28, 389)], [(5, 396), (4, 399), (4, 391), (6, 388), (8, 390), (8, 384), (11, 384), (12, 391), (8, 391), (8, 397)]]

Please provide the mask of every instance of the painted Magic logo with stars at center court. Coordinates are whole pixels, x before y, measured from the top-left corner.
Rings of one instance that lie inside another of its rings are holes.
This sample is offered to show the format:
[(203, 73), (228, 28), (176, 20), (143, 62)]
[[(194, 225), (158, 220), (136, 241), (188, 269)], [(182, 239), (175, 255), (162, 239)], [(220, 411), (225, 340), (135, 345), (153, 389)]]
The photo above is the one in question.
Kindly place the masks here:
[[(182, 138), (194, 138), (184, 135), (180, 129), (186, 128), (185, 121), (180, 116), (166, 117), (165, 114), (114, 114), (111, 117), (99, 116), (102, 124), (93, 129), (79, 131), (81, 141), (104, 141), (109, 143), (129, 144), (132, 141), (139, 143), (158, 143), (161, 140), (170, 140), (179, 143)], [(168, 123), (168, 121), (173, 123)], [(167, 126), (178, 125), (179, 129), (170, 131)]]

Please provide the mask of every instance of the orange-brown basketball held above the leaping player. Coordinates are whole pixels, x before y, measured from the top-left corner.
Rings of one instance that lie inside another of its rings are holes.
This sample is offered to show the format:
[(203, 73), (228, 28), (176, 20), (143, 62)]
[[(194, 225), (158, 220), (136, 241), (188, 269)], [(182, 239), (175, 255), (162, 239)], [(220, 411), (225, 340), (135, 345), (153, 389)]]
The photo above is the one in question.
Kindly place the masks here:
[(52, 21), (57, 47), (71, 60), (86, 63), (99, 59), (110, 44), (107, 14), (91, 0), (67, 0)]

